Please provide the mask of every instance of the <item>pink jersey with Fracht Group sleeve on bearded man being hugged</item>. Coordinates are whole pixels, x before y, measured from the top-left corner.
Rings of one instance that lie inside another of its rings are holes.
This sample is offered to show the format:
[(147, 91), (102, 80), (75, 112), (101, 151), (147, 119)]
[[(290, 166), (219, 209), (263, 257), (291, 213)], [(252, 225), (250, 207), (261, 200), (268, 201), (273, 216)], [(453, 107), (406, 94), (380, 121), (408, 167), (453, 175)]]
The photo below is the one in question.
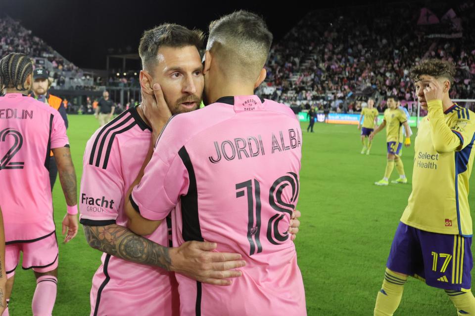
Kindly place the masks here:
[[(142, 167), (150, 136), (149, 127), (133, 107), (91, 137), (83, 158), (81, 224), (127, 226), (124, 196)], [(148, 238), (169, 246), (168, 235), (167, 225), (161, 225)], [(133, 249), (140, 245), (125, 241), (123, 246)], [(91, 315), (178, 315), (173, 273), (105, 253), (101, 261), (93, 278)]]

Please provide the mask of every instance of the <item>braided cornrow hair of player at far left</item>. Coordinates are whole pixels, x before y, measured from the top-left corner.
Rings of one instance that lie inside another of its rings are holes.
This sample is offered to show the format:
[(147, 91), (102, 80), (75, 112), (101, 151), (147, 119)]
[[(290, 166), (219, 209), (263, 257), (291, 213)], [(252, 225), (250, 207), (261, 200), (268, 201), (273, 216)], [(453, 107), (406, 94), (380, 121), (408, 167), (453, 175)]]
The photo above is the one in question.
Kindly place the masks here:
[(9, 53), (0, 60), (0, 90), (26, 90), (25, 81), (31, 73), (33, 63), (30, 57), (22, 53)]

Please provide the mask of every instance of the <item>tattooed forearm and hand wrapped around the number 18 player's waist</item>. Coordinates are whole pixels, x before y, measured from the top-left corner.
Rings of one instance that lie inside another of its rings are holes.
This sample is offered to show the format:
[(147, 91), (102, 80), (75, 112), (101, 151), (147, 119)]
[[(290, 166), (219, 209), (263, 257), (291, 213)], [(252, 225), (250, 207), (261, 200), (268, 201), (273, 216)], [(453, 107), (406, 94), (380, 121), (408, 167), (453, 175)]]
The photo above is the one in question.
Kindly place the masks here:
[(167, 271), (183, 274), (200, 282), (229, 285), (230, 277), (240, 276), (236, 269), (245, 262), (233, 253), (212, 252), (214, 242), (188, 241), (180, 247), (167, 248), (136, 235), (126, 227), (83, 225), (89, 245), (112, 256)]

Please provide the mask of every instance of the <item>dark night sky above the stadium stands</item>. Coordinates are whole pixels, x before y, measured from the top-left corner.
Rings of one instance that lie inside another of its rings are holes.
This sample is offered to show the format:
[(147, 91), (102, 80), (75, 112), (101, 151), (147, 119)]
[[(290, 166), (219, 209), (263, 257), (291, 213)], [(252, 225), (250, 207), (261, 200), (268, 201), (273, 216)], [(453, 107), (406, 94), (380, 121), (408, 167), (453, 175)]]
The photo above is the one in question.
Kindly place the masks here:
[[(247, 9), (263, 15), (275, 40), (282, 38), (314, 8), (342, 6), (348, 1), (304, 4), (304, 1), (185, 1), (185, 0), (0, 0), (7, 14), (82, 68), (105, 69), (107, 49), (130, 46), (137, 52), (142, 32), (164, 22), (207, 30), (223, 14)], [(307, 1), (308, 2), (308, 1)], [(381, 3), (383, 1), (369, 1)], [(367, 1), (351, 1), (353, 4)]]

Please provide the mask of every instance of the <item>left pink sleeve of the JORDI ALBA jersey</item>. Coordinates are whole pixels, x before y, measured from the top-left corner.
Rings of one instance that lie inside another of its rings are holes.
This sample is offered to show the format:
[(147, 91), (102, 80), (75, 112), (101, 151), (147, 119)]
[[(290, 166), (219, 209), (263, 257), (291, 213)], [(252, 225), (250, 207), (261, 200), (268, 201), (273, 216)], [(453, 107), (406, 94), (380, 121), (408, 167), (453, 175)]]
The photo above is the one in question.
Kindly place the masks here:
[(183, 128), (173, 121), (167, 124), (142, 181), (132, 191), (131, 203), (146, 219), (163, 220), (188, 191), (189, 174), (179, 155), (184, 143), (177, 139), (183, 133)]

